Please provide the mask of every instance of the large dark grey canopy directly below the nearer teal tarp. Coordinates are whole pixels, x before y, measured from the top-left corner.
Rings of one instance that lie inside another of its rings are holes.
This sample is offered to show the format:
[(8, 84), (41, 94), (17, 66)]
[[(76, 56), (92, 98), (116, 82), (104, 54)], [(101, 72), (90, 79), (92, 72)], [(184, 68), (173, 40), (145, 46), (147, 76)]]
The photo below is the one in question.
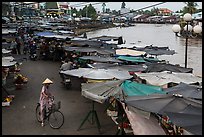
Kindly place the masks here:
[(202, 107), (202, 102), (175, 95), (130, 96), (125, 99), (127, 105), (158, 114), (180, 112), (188, 105)]

